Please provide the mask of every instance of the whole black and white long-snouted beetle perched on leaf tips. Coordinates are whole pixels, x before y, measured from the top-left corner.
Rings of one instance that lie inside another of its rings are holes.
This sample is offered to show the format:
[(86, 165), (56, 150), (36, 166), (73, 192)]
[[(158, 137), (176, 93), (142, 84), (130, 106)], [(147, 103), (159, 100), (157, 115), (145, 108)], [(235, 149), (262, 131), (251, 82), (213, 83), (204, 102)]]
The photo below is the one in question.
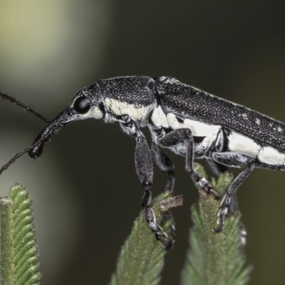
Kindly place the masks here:
[[(21, 105), (21, 104), (19, 104)], [(25, 107), (25, 106), (24, 106)], [(36, 112), (34, 112), (36, 113)], [(152, 135), (152, 157), (168, 173), (166, 190), (174, 187), (174, 167), (162, 148), (186, 157), (186, 170), (205, 192), (219, 199), (212, 185), (193, 170), (195, 158), (206, 158), (217, 169), (246, 167), (222, 197), (217, 223), (220, 232), (230, 200), (254, 167), (285, 169), (285, 125), (242, 105), (231, 103), (202, 90), (187, 86), (175, 78), (128, 76), (100, 80), (82, 88), (68, 108), (53, 118), (34, 140), (31, 147), (19, 152), (4, 167), (28, 152), (41, 156), (43, 146), (67, 123), (87, 118), (119, 122), (123, 132), (135, 137), (135, 168), (145, 194), (142, 206), (155, 237), (170, 249), (173, 240), (155, 222), (150, 207), (152, 158), (140, 128), (147, 126)]]

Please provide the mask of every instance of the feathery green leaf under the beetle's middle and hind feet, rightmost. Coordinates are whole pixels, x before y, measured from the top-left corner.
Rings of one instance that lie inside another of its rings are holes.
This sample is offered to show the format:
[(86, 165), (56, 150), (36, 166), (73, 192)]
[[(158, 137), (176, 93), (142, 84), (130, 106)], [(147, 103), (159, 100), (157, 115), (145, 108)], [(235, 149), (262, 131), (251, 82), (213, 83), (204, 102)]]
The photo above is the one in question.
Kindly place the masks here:
[[(195, 170), (203, 177), (206, 174), (200, 165)], [(229, 173), (220, 175), (212, 184), (219, 195), (232, 182)], [(182, 271), (182, 285), (244, 285), (249, 281), (250, 266), (245, 265), (241, 242), (239, 213), (229, 214), (224, 230), (215, 233), (220, 200), (207, 195), (197, 185), (199, 203), (192, 209), (194, 227), (190, 229), (190, 249), (187, 253), (185, 268)]]

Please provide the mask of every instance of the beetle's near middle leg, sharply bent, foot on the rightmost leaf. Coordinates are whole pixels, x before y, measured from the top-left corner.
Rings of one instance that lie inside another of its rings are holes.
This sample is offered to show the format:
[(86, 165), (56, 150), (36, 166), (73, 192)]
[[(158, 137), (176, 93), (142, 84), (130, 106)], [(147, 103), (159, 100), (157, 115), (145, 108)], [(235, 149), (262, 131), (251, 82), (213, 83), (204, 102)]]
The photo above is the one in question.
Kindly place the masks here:
[(192, 180), (198, 183), (202, 189), (208, 194), (212, 194), (215, 199), (219, 199), (219, 195), (214, 191), (214, 187), (204, 178), (199, 175), (193, 168), (194, 161), (194, 139), (190, 129), (177, 129), (167, 133), (163, 138), (157, 140), (161, 147), (172, 147), (187, 140), (187, 153), (186, 153), (186, 170), (190, 174)]

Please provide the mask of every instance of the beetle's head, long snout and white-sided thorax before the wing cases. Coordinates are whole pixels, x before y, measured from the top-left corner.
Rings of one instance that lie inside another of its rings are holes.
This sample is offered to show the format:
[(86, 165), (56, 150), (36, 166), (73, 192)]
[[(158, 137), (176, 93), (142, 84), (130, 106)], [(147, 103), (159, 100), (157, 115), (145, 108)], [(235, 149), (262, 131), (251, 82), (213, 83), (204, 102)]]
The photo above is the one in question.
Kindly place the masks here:
[(32, 158), (41, 156), (43, 146), (67, 123), (86, 118), (105, 119), (112, 123), (128, 115), (140, 125), (146, 125), (147, 115), (155, 108), (155, 81), (147, 76), (125, 76), (97, 81), (82, 88), (66, 110), (51, 120), (34, 140), (28, 152)]

